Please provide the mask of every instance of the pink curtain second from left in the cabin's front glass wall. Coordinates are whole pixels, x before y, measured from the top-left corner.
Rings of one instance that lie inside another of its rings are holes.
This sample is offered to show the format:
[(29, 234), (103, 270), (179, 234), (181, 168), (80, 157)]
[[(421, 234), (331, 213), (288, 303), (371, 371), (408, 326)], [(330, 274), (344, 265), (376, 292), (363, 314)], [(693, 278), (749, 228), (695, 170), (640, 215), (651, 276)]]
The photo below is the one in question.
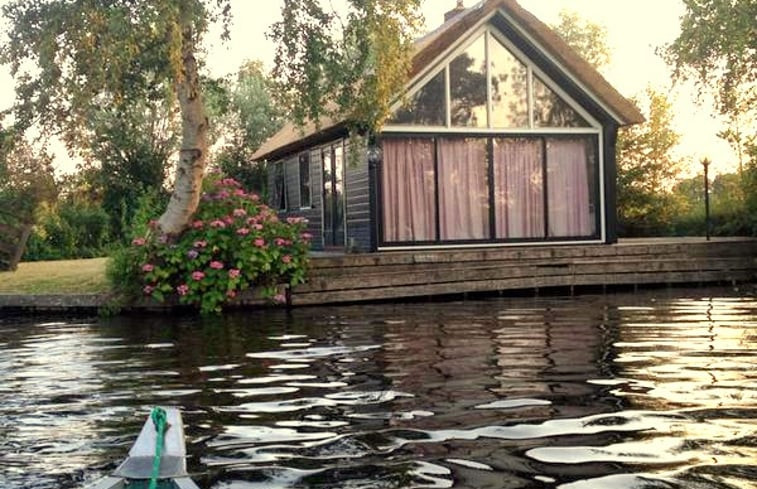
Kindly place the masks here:
[(439, 221), (442, 240), (491, 237), (486, 139), (439, 140)]

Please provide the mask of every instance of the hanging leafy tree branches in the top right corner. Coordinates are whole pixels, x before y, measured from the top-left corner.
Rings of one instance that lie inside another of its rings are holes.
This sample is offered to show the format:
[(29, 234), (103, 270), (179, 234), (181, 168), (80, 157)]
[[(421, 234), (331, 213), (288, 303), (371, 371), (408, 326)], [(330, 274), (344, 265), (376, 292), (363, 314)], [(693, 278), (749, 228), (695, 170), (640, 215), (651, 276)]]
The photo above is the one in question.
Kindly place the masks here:
[(664, 55), (679, 80), (716, 94), (723, 114), (757, 106), (757, 2), (684, 0), (681, 33)]

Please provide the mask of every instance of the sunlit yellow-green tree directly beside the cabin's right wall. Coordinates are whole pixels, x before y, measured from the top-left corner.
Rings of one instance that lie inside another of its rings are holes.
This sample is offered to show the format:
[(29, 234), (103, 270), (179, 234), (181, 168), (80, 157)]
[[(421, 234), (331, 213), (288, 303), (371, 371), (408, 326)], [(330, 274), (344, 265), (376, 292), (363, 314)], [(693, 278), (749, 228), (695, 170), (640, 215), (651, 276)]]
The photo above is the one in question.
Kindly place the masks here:
[(626, 236), (660, 234), (678, 213), (670, 188), (681, 170), (672, 155), (680, 140), (665, 95), (647, 89), (647, 120), (621, 129), (617, 143), (618, 211)]

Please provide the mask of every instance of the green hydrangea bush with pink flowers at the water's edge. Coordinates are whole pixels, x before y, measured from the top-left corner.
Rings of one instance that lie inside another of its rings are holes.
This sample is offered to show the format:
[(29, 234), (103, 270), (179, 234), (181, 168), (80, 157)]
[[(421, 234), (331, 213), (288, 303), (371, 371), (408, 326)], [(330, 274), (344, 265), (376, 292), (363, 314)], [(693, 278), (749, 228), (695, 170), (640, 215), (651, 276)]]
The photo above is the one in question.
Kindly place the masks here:
[(190, 229), (175, 240), (154, 221), (132, 246), (115, 255), (108, 276), (116, 290), (157, 301), (176, 300), (202, 313), (220, 312), (254, 287), (275, 301), (278, 285), (304, 282), (308, 240), (302, 219), (280, 222), (256, 194), (233, 179), (206, 179)]

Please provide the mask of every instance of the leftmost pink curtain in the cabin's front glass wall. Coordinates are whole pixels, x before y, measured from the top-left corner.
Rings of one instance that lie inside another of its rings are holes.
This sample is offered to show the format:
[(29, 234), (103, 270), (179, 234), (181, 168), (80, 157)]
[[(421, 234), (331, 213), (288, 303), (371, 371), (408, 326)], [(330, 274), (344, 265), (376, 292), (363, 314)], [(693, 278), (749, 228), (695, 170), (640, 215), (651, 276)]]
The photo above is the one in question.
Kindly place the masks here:
[(433, 140), (387, 139), (382, 145), (384, 241), (435, 240)]

